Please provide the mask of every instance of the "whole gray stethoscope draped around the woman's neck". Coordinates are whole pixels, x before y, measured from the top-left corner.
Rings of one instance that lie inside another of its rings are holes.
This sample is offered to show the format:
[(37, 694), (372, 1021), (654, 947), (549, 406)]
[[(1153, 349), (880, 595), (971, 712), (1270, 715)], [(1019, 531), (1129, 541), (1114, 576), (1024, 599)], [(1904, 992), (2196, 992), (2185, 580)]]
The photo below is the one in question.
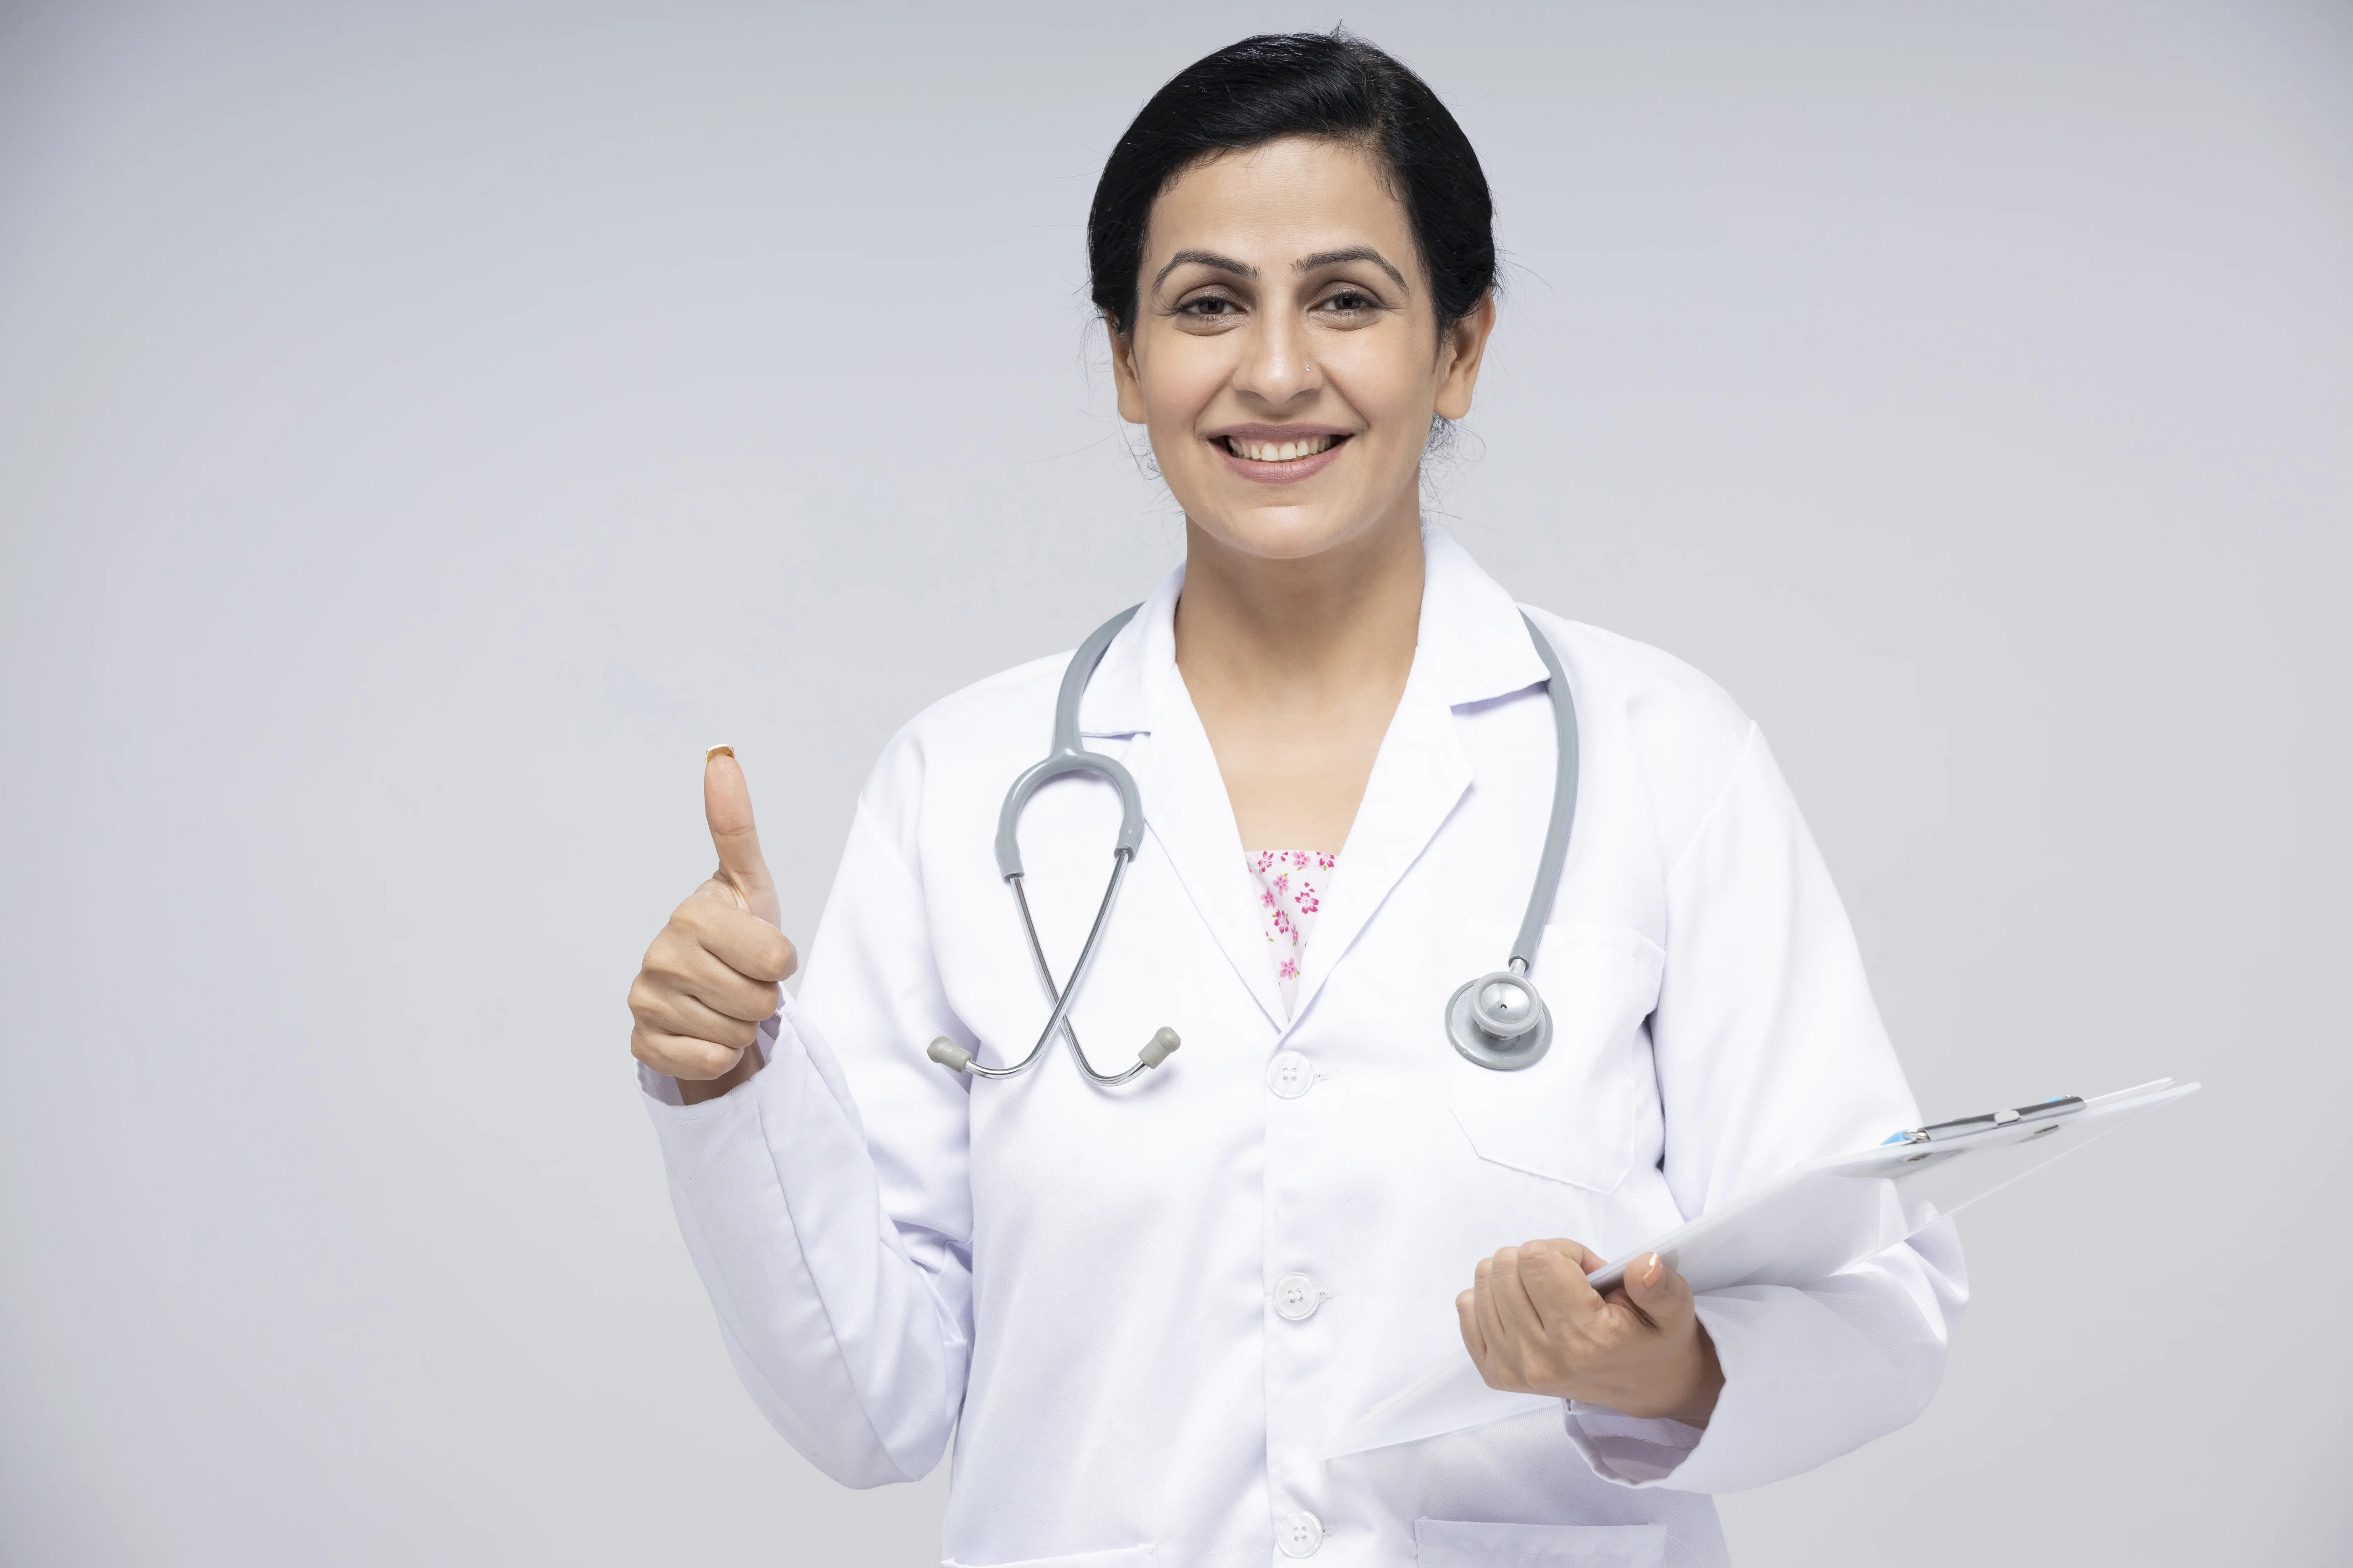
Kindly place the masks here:
[[(1071, 656), (1071, 665), (1061, 672), (1061, 691), (1054, 698), (1054, 750), (1028, 771), (1021, 773), (1005, 792), (1005, 804), (998, 809), (998, 872), (1014, 889), (1014, 905), (1021, 910), (1021, 933), (1028, 936), (1031, 961), (1038, 966), (1038, 980), (1045, 983), (1049, 997), (1054, 997), (1054, 1011), (1045, 1020), (1045, 1030), (1038, 1034), (1038, 1044), (1012, 1067), (981, 1067), (972, 1060), (972, 1051), (958, 1046), (953, 1039), (941, 1034), (932, 1041), (927, 1056), (941, 1067), (965, 1072), (976, 1079), (1009, 1079), (1028, 1072), (1038, 1065), (1045, 1053), (1047, 1041), (1059, 1032), (1071, 1044), (1071, 1058), (1078, 1070), (1087, 1074), (1089, 1081), (1125, 1084), (1146, 1067), (1158, 1067), (1169, 1058), (1181, 1044), (1176, 1030), (1162, 1027), (1144, 1048), (1136, 1051), (1136, 1060), (1127, 1072), (1096, 1072), (1094, 1063), (1087, 1060), (1085, 1046), (1078, 1044), (1078, 1030), (1071, 1027), (1071, 1004), (1078, 999), (1078, 985), (1087, 973), (1087, 964), (1094, 959), (1094, 947), (1104, 936), (1104, 922), (1111, 917), (1111, 905), (1120, 896), (1120, 882), (1127, 879), (1127, 865), (1136, 858), (1136, 849), (1144, 846), (1144, 795), (1136, 790), (1134, 776), (1113, 757), (1101, 752), (1089, 752), (1078, 743), (1078, 703), (1087, 693), (1087, 682), (1094, 679), (1094, 668), (1104, 663), (1104, 649), (1111, 639), (1120, 635), (1129, 621), (1134, 621), (1141, 604), (1129, 604), (1118, 616), (1094, 628), (1094, 635), (1078, 644), (1078, 654)], [(1520, 936), (1511, 945), (1511, 961), (1494, 973), (1485, 973), (1475, 980), (1466, 980), (1447, 997), (1447, 1039), (1468, 1060), (1480, 1067), (1494, 1067), (1497, 1072), (1520, 1072), (1522, 1067), (1534, 1067), (1544, 1060), (1544, 1053), (1553, 1048), (1553, 1011), (1544, 1006), (1544, 997), (1537, 994), (1537, 983), (1527, 978), (1527, 971), (1537, 961), (1537, 945), (1544, 940), (1544, 924), (1553, 910), (1553, 893), (1560, 891), (1560, 867), (1569, 858), (1569, 827), (1577, 823), (1577, 701), (1569, 696), (1569, 677), (1560, 668), (1560, 656), (1553, 644), (1537, 630), (1537, 623), (1520, 614), (1522, 625), (1527, 625), (1529, 642), (1537, 644), (1537, 658), (1544, 661), (1544, 672), (1548, 677), (1548, 691), (1553, 696), (1553, 733), (1555, 766), (1553, 766), (1553, 813), (1544, 830), (1544, 853), (1537, 860), (1537, 886), (1527, 896), (1527, 914), (1520, 919)], [(1111, 884), (1104, 889), (1104, 903), (1094, 910), (1094, 924), (1087, 929), (1087, 943), (1078, 950), (1078, 964), (1071, 966), (1071, 983), (1054, 985), (1054, 971), (1045, 961), (1045, 947), (1038, 943), (1038, 922), (1031, 919), (1028, 893), (1021, 891), (1021, 811), (1028, 806), (1028, 797), (1038, 785), (1049, 778), (1061, 778), (1066, 773), (1094, 773), (1120, 792), (1120, 837), (1111, 846)]]

